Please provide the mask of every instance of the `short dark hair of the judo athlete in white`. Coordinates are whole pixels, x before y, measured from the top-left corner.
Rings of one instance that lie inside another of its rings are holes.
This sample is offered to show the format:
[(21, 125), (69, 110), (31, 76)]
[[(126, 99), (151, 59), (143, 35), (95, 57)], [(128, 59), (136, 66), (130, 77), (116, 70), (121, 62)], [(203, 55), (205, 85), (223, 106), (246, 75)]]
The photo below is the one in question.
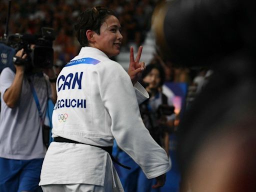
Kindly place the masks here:
[(86, 30), (90, 29), (99, 34), (101, 24), (110, 15), (116, 16), (115, 12), (102, 5), (97, 5), (88, 8), (80, 13), (74, 25), (75, 36), (80, 43), (80, 46), (87, 46), (88, 39), (86, 38)]

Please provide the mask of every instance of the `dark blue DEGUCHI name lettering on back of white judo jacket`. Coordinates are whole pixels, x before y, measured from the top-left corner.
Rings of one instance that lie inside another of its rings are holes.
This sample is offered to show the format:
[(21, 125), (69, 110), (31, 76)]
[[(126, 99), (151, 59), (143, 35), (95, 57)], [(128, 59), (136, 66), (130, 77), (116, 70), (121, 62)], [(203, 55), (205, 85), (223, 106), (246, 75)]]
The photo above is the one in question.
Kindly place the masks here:
[(57, 100), (53, 110), (62, 107), (86, 108), (86, 99), (66, 98)]

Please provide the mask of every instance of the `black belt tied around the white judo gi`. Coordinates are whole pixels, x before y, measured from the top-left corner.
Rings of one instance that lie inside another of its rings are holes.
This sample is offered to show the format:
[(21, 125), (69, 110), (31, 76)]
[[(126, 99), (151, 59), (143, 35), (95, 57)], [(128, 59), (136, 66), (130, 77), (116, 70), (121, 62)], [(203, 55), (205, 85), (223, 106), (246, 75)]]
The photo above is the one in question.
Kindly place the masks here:
[[(70, 142), (70, 143), (76, 143), (76, 144), (87, 144), (87, 143), (82, 143), (82, 142), (78, 142), (78, 141), (75, 141), (75, 140), (71, 140), (71, 139), (68, 139), (68, 138), (63, 138), (63, 137), (60, 137), (60, 136), (55, 137), (54, 141), (55, 142)], [(123, 168), (130, 169), (129, 166), (125, 166), (125, 165), (121, 164), (118, 160), (116, 160), (113, 157), (113, 155), (112, 155), (113, 147), (112, 146), (97, 146), (97, 145), (93, 145), (93, 144), (88, 144), (88, 145), (96, 146), (96, 147), (99, 147), (99, 148), (105, 150), (106, 152), (108, 152), (108, 154), (110, 154), (110, 157), (111, 157), (113, 162), (122, 166)]]

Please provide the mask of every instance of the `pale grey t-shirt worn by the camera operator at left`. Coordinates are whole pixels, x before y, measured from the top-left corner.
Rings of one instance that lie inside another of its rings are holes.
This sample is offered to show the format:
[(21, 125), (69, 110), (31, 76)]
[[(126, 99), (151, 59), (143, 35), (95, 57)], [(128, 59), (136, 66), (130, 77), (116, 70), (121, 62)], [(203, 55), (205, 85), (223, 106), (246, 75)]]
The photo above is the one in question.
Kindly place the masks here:
[[(10, 87), (15, 73), (8, 67), (0, 74), (1, 112), (0, 112), (0, 157), (10, 159), (43, 158), (46, 149), (42, 142), (42, 130), (39, 113), (26, 77), (17, 106), (9, 108), (3, 100), (3, 94)], [(42, 73), (30, 76), (37, 94), (42, 115), (47, 105), (47, 90)], [(50, 84), (47, 81), (51, 96)]]

